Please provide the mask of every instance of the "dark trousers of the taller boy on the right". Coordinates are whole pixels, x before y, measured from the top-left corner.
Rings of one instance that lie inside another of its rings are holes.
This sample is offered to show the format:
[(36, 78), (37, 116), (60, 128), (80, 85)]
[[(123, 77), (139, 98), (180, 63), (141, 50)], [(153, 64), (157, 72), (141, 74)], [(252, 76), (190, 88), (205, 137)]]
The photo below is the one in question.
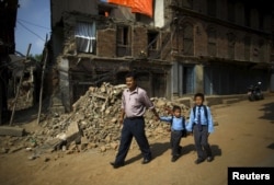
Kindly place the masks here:
[[(194, 141), (197, 150), (197, 154), (199, 159), (205, 159), (207, 157), (212, 157), (212, 149), (208, 143), (208, 126), (202, 125), (202, 130), (198, 129), (197, 125), (194, 125)], [(203, 150), (204, 149), (204, 150)], [(206, 155), (204, 153), (206, 152)]]

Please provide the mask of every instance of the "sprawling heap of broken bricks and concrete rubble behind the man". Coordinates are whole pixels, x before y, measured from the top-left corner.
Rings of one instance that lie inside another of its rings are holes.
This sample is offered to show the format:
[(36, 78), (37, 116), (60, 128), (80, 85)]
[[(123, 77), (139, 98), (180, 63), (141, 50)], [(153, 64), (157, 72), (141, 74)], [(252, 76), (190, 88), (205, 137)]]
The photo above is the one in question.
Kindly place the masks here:
[[(61, 115), (52, 113), (42, 123), (43, 130), (25, 137), (15, 137), (16, 141), (23, 141), (18, 144), (0, 142), (0, 152), (10, 153), (25, 148), (27, 152), (33, 152), (28, 157), (30, 160), (33, 160), (39, 153), (52, 153), (56, 150), (67, 154), (89, 149), (98, 149), (100, 152), (117, 150), (122, 128), (118, 120), (121, 101), (125, 88), (124, 84), (112, 85), (105, 82), (100, 88), (90, 86), (85, 94), (72, 105), (71, 113)], [(164, 107), (174, 105), (173, 102), (163, 97), (151, 97), (151, 101), (160, 115), (168, 114)], [(189, 108), (183, 104), (176, 105), (181, 106), (183, 114), (187, 116)], [(151, 112), (146, 112), (145, 120), (146, 135), (149, 140), (169, 137), (169, 124), (156, 122)], [(10, 139), (14, 139), (14, 137), (10, 137)], [(132, 144), (132, 148), (134, 147), (137, 147), (135, 140)]]

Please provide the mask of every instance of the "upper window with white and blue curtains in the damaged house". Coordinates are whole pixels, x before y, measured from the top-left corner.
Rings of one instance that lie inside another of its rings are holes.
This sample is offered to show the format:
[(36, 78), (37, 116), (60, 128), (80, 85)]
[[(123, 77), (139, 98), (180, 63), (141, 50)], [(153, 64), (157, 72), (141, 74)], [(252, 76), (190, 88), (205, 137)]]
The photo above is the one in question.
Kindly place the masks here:
[(95, 23), (78, 22), (76, 25), (77, 50), (81, 53), (95, 51)]

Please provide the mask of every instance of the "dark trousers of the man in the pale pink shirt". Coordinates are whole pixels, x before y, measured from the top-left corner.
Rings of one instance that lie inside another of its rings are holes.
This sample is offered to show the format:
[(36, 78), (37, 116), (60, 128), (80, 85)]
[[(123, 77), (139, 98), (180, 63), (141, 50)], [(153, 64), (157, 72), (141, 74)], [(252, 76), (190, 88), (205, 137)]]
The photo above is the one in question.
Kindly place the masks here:
[(144, 118), (142, 117), (125, 118), (123, 129), (122, 129), (119, 149), (118, 149), (118, 153), (115, 160), (116, 164), (123, 164), (125, 162), (133, 137), (135, 137), (137, 141), (141, 150), (141, 153), (144, 155), (144, 159), (148, 159), (148, 160), (151, 159), (151, 151), (149, 148), (148, 139), (145, 135)]

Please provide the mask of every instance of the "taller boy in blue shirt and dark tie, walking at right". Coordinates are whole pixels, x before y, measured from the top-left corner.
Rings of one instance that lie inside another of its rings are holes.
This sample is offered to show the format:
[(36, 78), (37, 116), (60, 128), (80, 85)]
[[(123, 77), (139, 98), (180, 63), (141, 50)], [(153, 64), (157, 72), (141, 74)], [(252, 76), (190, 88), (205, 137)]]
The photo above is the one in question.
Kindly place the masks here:
[(205, 159), (213, 161), (212, 149), (208, 143), (208, 136), (214, 131), (213, 117), (208, 106), (203, 105), (205, 96), (203, 93), (194, 95), (195, 106), (191, 111), (190, 122), (186, 125), (187, 131), (193, 131), (195, 147), (197, 150), (196, 164)]

